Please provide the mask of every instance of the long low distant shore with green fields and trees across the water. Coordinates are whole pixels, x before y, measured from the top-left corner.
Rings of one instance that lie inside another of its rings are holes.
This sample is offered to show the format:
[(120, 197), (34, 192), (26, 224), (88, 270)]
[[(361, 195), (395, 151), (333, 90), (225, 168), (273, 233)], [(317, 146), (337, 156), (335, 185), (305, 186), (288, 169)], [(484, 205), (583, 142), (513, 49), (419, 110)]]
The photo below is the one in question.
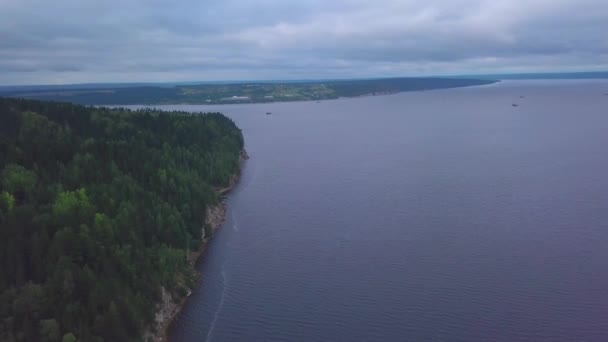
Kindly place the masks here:
[(327, 100), (494, 83), (466, 78), (385, 78), (305, 82), (258, 82), (174, 86), (72, 86), (0, 89), (0, 96), (69, 101), (88, 105), (217, 104)]

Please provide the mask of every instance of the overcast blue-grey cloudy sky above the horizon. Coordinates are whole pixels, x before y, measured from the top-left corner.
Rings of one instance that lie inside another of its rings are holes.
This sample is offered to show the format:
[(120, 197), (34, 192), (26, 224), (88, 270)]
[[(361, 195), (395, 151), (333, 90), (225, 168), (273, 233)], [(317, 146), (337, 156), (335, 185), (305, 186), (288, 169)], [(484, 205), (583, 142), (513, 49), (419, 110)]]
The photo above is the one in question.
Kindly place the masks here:
[(606, 70), (606, 0), (0, 0), (0, 85)]

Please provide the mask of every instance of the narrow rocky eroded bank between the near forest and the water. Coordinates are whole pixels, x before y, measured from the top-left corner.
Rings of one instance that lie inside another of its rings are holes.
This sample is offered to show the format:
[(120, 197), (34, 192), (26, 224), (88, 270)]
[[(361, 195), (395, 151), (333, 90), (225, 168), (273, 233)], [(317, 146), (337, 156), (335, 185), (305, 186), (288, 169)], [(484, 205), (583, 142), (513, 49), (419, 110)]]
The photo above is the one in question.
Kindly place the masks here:
[[(208, 237), (205, 236), (205, 227), (210, 227), (211, 231), (215, 233), (215, 231), (222, 226), (226, 219), (227, 208), (225, 203), (225, 196), (228, 195), (228, 193), (230, 193), (230, 191), (238, 184), (241, 178), (241, 173), (243, 171), (245, 161), (247, 159), (249, 159), (249, 155), (247, 154), (247, 151), (243, 149), (239, 156), (239, 169), (237, 173), (232, 176), (230, 182), (226, 187), (215, 189), (221, 199), (217, 204), (207, 207), (205, 213), (205, 222), (202, 227), (202, 244), (198, 250), (191, 252), (188, 256), (188, 261), (190, 262), (193, 268), (200, 260), (201, 255), (207, 249), (207, 244), (213, 237), (213, 234)], [(146, 329), (146, 331), (144, 332), (143, 340), (146, 342), (168, 341), (168, 332), (171, 329), (171, 325), (173, 324), (178, 313), (182, 310), (182, 308), (188, 301), (188, 298), (191, 294), (192, 289), (188, 289), (186, 296), (176, 302), (174, 296), (169, 291), (167, 291), (167, 289), (161, 287), (161, 301), (158, 304), (158, 310), (156, 312), (154, 323), (152, 327)]]

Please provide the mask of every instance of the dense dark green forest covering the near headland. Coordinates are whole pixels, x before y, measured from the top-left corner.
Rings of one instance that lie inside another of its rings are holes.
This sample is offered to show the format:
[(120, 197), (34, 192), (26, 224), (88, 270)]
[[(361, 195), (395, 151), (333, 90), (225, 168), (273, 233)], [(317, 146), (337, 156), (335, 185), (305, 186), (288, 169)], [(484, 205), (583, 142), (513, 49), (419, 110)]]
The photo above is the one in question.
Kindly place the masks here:
[(243, 148), (219, 113), (0, 98), (0, 340), (149, 335)]

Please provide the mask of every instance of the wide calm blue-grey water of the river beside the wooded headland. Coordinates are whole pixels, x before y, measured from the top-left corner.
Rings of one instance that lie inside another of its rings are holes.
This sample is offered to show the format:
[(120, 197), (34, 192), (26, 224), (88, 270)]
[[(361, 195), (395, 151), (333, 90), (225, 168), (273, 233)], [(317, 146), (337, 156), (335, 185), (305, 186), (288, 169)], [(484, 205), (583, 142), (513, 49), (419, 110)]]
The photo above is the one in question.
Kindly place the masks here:
[(171, 340), (608, 341), (604, 93), (167, 107), (225, 112), (251, 156)]

